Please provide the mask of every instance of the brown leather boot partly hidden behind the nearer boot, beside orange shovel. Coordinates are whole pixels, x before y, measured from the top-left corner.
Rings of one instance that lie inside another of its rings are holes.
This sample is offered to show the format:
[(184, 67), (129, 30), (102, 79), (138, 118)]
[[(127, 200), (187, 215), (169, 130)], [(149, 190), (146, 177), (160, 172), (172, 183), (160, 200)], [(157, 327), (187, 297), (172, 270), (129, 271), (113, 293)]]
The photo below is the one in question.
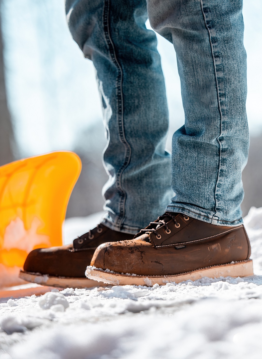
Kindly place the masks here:
[(104, 242), (133, 237), (133, 234), (117, 232), (98, 224), (88, 233), (74, 239), (71, 244), (33, 250), (28, 254), (24, 271), (19, 276), (33, 283), (60, 288), (97, 286), (97, 282), (85, 277), (86, 266), (90, 264), (95, 249)]

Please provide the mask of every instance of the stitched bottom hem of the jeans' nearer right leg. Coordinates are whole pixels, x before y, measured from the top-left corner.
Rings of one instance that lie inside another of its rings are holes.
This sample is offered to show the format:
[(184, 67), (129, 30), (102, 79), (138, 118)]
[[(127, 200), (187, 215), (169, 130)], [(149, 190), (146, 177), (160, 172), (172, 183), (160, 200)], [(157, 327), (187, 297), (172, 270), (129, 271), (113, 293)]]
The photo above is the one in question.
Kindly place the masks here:
[(239, 224), (243, 224), (242, 217), (230, 222), (230, 221), (223, 220), (223, 219), (219, 218), (218, 216), (216, 216), (215, 212), (202, 210), (201, 208), (198, 208), (193, 205), (187, 205), (185, 203), (183, 203), (183, 205), (169, 204), (167, 206), (166, 211), (182, 213), (182, 214), (185, 214), (192, 218), (199, 219), (200, 221), (210, 223), (210, 224), (215, 224), (215, 225), (225, 225), (228, 227), (234, 227)]

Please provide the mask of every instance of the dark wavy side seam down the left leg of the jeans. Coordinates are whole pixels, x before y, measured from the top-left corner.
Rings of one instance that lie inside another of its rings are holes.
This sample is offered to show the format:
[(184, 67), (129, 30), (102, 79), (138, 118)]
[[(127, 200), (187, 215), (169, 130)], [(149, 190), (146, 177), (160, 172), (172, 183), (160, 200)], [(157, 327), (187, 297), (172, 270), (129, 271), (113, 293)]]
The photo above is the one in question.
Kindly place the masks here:
[(125, 168), (128, 166), (128, 164), (130, 163), (130, 159), (131, 159), (131, 146), (130, 144), (127, 142), (126, 140), (126, 136), (125, 136), (125, 130), (124, 130), (124, 121), (123, 121), (123, 91), (122, 91), (122, 81), (123, 81), (123, 70), (122, 67), (120, 66), (120, 63), (117, 60), (116, 57), (116, 52), (114, 49), (114, 44), (112, 41), (112, 38), (110, 36), (109, 33), (109, 6), (110, 6), (110, 0), (105, 0), (104, 1), (104, 11), (103, 11), (103, 24), (104, 24), (104, 34), (106, 37), (106, 42), (109, 48), (109, 54), (111, 56), (112, 61), (114, 62), (114, 64), (116, 65), (117, 69), (118, 69), (118, 75), (117, 75), (117, 115), (118, 115), (118, 129), (120, 132), (120, 140), (123, 143), (123, 145), (125, 146), (125, 162), (123, 163), (122, 167), (120, 168), (120, 170), (118, 171), (118, 173), (116, 174), (116, 185), (117, 188), (122, 192), (121, 194), (121, 199), (120, 199), (120, 215), (117, 219), (116, 225), (120, 225), (123, 222), (123, 219), (125, 217), (125, 202), (126, 202), (126, 192), (123, 190), (123, 187), (121, 185), (121, 179), (122, 179), (122, 174), (123, 171), (125, 170)]

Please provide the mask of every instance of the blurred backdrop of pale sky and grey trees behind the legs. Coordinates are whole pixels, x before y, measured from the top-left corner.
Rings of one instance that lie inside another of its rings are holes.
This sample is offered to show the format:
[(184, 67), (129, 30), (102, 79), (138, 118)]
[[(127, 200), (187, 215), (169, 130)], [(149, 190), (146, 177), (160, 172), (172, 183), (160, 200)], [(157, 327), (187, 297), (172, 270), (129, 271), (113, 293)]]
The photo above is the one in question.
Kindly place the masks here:
[[(262, 206), (262, 1), (244, 0), (248, 63), (247, 114), (251, 133), (243, 172), (246, 215)], [(52, 150), (79, 154), (83, 169), (67, 218), (102, 211), (106, 145), (100, 98), (91, 61), (72, 40), (64, 0), (0, 0), (0, 165)], [(147, 26), (150, 27), (147, 22)], [(167, 149), (184, 122), (172, 44), (158, 36), (170, 115)]]

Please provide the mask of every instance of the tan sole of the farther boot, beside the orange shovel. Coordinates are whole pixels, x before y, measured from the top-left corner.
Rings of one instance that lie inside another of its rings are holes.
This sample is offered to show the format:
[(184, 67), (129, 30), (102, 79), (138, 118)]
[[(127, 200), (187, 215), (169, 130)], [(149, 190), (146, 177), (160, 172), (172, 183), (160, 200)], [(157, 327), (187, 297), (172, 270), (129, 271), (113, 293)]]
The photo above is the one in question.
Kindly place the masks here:
[(47, 276), (41, 274), (28, 273), (20, 271), (19, 278), (28, 282), (37, 283), (41, 285), (47, 285), (58, 288), (92, 288), (92, 287), (104, 287), (106, 284), (103, 282), (97, 282), (88, 278), (60, 278), (55, 276)]

